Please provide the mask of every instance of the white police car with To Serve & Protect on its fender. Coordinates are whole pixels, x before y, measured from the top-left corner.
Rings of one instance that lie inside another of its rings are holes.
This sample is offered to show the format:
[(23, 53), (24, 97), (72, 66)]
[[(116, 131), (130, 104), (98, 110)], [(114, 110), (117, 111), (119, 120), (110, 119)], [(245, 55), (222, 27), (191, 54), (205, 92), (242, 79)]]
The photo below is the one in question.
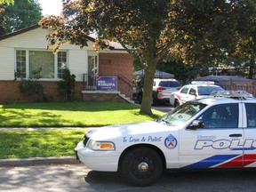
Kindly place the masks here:
[(188, 101), (156, 120), (85, 133), (76, 156), (89, 169), (148, 186), (163, 171), (256, 166), (256, 99), (244, 92)]

